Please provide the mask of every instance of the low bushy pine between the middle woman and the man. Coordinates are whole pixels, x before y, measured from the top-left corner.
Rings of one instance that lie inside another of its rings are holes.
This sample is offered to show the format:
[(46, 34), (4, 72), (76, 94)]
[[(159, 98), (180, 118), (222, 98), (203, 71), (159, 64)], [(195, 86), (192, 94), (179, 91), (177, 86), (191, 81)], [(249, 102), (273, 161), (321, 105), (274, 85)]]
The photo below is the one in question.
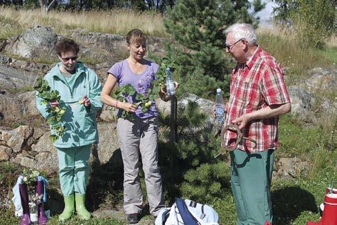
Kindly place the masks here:
[[(206, 126), (208, 118), (200, 113), (196, 102), (190, 101), (186, 107), (179, 106), (178, 142), (159, 143), (160, 170), (169, 202), (173, 202), (175, 197), (209, 202), (227, 192), (228, 166), (222, 157), (214, 158), (222, 148), (220, 138), (213, 137), (211, 129)], [(170, 116), (160, 117), (160, 122), (166, 128), (166, 132), (161, 133), (161, 140), (168, 140)]]

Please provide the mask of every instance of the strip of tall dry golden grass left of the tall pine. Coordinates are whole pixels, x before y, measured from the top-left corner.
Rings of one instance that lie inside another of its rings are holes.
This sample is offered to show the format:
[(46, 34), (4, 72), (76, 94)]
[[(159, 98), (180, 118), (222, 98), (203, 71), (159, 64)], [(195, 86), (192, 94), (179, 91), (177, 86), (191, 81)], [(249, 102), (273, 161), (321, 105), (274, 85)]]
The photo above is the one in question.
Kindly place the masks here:
[[(13, 26), (17, 24), (16, 26)], [(107, 32), (126, 35), (128, 30), (139, 28), (150, 35), (166, 36), (162, 14), (115, 9), (108, 11), (58, 12), (48, 14), (41, 10), (14, 10), (0, 8), (0, 24), (8, 29), (0, 30), (0, 39), (19, 34), (36, 25), (52, 26), (61, 35), (70, 35), (71, 30), (81, 28), (87, 32)]]

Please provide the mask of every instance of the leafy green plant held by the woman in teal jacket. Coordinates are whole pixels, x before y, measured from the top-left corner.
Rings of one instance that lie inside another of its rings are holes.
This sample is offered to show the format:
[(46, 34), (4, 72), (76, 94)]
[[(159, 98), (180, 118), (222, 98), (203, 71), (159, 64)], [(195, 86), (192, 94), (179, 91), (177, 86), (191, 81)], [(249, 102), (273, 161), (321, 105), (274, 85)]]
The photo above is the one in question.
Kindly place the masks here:
[(64, 113), (66, 113), (66, 107), (50, 106), (50, 101), (60, 101), (61, 97), (59, 96), (59, 92), (57, 90), (50, 90), (48, 81), (42, 79), (41, 77), (37, 78), (37, 85), (34, 86), (34, 89), (39, 92), (37, 96), (43, 99), (41, 104), (47, 106), (47, 123), (50, 124), (51, 129), (55, 132), (55, 135), (50, 135), (49, 137), (52, 141), (56, 141), (59, 137), (62, 137), (66, 131), (66, 127), (61, 124), (61, 119)]

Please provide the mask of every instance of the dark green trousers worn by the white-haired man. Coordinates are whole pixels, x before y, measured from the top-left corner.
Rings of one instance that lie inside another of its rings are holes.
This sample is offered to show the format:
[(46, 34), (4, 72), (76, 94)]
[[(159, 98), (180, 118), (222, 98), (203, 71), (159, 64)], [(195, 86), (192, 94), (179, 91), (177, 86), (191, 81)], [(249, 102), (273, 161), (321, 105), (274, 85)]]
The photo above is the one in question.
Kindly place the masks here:
[(231, 155), (231, 188), (238, 213), (238, 225), (272, 222), (270, 185), (273, 152), (249, 153), (239, 149)]

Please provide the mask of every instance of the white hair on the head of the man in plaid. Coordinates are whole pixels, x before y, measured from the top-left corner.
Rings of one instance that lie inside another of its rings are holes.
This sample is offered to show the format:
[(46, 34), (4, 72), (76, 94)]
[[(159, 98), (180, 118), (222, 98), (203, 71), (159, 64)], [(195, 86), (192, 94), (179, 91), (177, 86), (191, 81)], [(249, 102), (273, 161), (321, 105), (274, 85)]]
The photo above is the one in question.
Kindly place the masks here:
[(253, 28), (253, 26), (249, 23), (234, 23), (232, 26), (224, 30), (226, 35), (228, 33), (233, 33), (233, 37), (235, 41), (240, 39), (245, 39), (248, 43), (253, 45), (258, 41), (258, 36)]

